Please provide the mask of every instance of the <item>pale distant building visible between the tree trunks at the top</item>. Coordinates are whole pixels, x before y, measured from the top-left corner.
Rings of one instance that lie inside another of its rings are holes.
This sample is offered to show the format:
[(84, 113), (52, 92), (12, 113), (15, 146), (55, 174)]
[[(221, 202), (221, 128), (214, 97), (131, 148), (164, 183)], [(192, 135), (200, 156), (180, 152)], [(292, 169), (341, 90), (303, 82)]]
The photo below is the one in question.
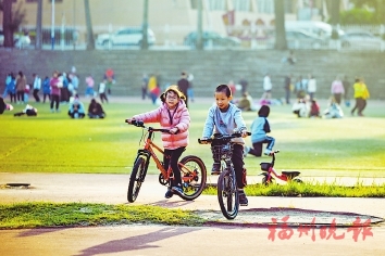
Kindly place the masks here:
[[(42, 26), (52, 25), (52, 0), (42, 0)], [(321, 21), (327, 17), (326, 0), (285, 0), (286, 20)], [(54, 0), (54, 26), (73, 29), (74, 37), (85, 37), (84, 1)], [(149, 27), (154, 31), (157, 43), (181, 43), (184, 37), (197, 27), (198, 0), (156, 0), (148, 1)], [(144, 3), (137, 0), (91, 0), (91, 21), (94, 33), (115, 31), (125, 26), (141, 26)], [(348, 0), (341, 0), (347, 8)], [(14, 0), (13, 8), (26, 11), (22, 28), (36, 27), (37, 0)], [(202, 0), (202, 26), (221, 35), (241, 37), (258, 31), (256, 26), (274, 24), (273, 0)], [(0, 13), (2, 22), (2, 13)], [(21, 28), (21, 29), (22, 29)], [(75, 29), (74, 29), (75, 28)], [(261, 36), (260, 35), (260, 36)], [(263, 35), (262, 35), (263, 36)]]

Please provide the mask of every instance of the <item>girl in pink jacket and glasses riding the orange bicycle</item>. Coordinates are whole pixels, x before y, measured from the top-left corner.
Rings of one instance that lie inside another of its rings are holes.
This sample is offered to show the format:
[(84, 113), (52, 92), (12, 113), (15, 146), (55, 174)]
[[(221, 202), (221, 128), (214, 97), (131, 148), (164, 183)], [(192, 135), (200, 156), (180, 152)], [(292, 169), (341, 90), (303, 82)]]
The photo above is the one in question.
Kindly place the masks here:
[(171, 166), (174, 179), (171, 180), (171, 188), (167, 189), (165, 197), (170, 199), (173, 194), (183, 194), (181, 170), (177, 166), (182, 153), (188, 144), (188, 128), (190, 115), (186, 107), (185, 95), (177, 86), (170, 86), (161, 95), (162, 104), (153, 111), (138, 114), (128, 118), (141, 120), (144, 123), (159, 123), (163, 129), (170, 129), (170, 133), (162, 133), (164, 148), (163, 165), (167, 169)]

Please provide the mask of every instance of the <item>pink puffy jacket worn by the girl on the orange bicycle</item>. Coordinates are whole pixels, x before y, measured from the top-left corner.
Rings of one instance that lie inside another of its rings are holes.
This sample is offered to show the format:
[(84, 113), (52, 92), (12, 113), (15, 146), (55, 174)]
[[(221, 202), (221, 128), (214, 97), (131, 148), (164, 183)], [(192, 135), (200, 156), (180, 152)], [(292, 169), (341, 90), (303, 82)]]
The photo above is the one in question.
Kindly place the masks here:
[(175, 150), (181, 146), (188, 145), (188, 128), (190, 125), (190, 114), (183, 100), (179, 101), (178, 106), (173, 112), (169, 112), (165, 103), (154, 111), (142, 113), (133, 116), (136, 120), (145, 123), (159, 123), (163, 129), (178, 128), (176, 135), (162, 133), (163, 148), (167, 150)]

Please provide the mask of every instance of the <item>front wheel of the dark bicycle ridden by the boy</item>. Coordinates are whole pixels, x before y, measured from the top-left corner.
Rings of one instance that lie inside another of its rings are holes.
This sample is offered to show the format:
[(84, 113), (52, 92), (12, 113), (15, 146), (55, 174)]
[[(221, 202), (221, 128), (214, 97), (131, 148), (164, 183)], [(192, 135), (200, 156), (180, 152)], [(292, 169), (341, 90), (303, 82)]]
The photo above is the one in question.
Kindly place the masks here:
[(237, 217), (239, 199), (234, 171), (224, 169), (218, 178), (218, 201), (224, 217), (227, 219)]

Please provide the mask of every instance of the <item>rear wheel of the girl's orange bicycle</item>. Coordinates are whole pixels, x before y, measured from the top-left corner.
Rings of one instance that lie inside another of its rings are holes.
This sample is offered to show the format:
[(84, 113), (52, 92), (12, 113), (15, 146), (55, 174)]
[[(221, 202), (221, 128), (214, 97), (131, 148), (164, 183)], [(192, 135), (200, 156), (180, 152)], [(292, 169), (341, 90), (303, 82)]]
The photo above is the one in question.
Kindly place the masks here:
[(179, 161), (182, 177), (182, 199), (191, 201), (197, 199), (203, 191), (207, 180), (206, 165), (201, 158), (187, 155)]

